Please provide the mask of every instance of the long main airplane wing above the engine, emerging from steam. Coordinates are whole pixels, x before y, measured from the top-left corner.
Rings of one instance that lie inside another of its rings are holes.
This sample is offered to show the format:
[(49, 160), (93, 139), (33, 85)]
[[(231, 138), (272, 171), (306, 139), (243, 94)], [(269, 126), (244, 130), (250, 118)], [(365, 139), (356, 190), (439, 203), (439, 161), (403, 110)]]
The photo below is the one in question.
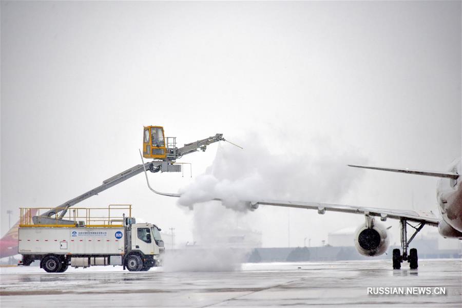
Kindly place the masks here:
[(296, 207), (315, 209), (319, 214), (324, 214), (325, 211), (337, 211), (340, 213), (362, 214), (369, 216), (378, 216), (381, 220), (387, 218), (401, 219), (406, 218), (409, 221), (425, 222), (428, 225), (438, 226), (439, 218), (432, 212), (414, 211), (414, 210), (401, 210), (401, 209), (388, 209), (377, 207), (363, 207), (342, 204), (330, 203), (315, 203), (315, 202), (294, 202), (294, 201), (279, 201), (279, 200), (260, 200), (250, 202), (251, 208), (257, 208), (258, 205), (273, 205), (284, 207)]

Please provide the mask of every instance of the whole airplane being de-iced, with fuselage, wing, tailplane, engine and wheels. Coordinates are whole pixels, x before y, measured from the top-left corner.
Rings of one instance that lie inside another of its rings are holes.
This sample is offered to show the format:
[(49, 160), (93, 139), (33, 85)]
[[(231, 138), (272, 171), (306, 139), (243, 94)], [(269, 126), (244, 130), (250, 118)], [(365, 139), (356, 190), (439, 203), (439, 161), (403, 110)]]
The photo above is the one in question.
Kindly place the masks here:
[[(244, 201), (251, 210), (262, 205), (297, 207), (306, 209), (315, 209), (318, 214), (324, 214), (325, 211), (338, 211), (342, 213), (362, 214), (365, 217), (365, 223), (361, 224), (356, 232), (355, 246), (358, 252), (364, 256), (379, 256), (387, 251), (389, 238), (387, 229), (378, 223), (374, 217), (380, 217), (381, 221), (386, 221), (387, 218), (398, 219), (401, 228), (401, 249), (393, 249), (393, 268), (401, 268), (403, 261), (408, 261), (411, 269), (418, 267), (417, 249), (411, 248), (408, 255), (408, 248), (411, 241), (424, 225), (437, 226), (439, 233), (445, 238), (462, 239), (462, 174), (461, 159), (454, 160), (446, 172), (409, 170), (409, 169), (393, 169), (382, 167), (368, 167), (349, 165), (358, 168), (386, 170), (394, 172), (403, 172), (408, 174), (438, 177), (440, 180), (437, 184), (437, 199), (439, 203), (439, 211), (441, 218), (437, 218), (432, 212), (426, 213), (414, 210), (402, 209), (387, 209), (376, 207), (351, 206), (342, 204), (328, 204), (316, 202), (294, 202), (280, 200), (254, 200)], [(149, 185), (147, 173), (145, 170), (146, 182), (150, 190), (156, 194), (168, 197), (181, 197), (180, 194), (169, 194), (159, 192), (151, 188)], [(219, 198), (213, 200), (221, 201)], [(413, 224), (411, 224), (413, 223)], [(415, 229), (414, 233), (408, 240), (407, 226)]]

